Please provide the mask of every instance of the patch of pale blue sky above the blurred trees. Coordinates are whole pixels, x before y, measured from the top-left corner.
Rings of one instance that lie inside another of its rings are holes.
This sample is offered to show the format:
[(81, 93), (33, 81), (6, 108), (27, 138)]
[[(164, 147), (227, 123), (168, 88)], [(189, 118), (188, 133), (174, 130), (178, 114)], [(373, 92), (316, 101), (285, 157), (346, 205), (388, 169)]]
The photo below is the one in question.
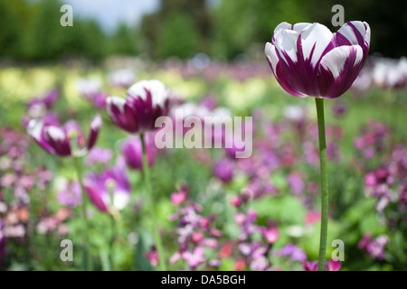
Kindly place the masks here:
[(101, 23), (111, 32), (118, 23), (137, 24), (144, 14), (153, 13), (159, 8), (159, 0), (63, 0), (72, 6), (75, 14), (90, 17)]

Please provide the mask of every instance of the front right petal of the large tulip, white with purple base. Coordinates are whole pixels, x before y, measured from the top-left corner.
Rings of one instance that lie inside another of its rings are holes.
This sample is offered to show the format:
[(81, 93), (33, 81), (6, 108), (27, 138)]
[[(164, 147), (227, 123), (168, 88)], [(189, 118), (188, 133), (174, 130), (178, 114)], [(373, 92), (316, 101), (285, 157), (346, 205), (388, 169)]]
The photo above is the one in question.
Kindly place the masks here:
[(337, 98), (352, 86), (362, 68), (364, 53), (359, 45), (339, 46), (322, 58), (318, 86), (324, 98)]

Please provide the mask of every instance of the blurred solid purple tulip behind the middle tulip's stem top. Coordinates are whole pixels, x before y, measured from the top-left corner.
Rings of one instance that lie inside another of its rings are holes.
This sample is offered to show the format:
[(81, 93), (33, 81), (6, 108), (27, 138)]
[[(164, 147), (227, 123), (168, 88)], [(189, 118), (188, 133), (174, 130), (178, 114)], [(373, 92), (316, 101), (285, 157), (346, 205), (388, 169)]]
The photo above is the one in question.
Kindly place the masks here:
[[(146, 154), (148, 166), (152, 166), (156, 159), (156, 146), (154, 139), (145, 135)], [(133, 170), (143, 170), (143, 148), (139, 136), (129, 136), (121, 145), (121, 153), (126, 163)]]

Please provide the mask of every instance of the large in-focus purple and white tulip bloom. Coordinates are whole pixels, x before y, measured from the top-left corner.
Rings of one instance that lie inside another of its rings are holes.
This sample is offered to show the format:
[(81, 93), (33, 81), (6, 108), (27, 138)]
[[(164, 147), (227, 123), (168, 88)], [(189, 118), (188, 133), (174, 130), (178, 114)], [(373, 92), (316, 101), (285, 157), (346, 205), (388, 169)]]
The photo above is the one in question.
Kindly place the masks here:
[(345, 23), (337, 33), (320, 23), (280, 23), (265, 53), (279, 84), (298, 97), (338, 98), (362, 69), (370, 45), (365, 22)]

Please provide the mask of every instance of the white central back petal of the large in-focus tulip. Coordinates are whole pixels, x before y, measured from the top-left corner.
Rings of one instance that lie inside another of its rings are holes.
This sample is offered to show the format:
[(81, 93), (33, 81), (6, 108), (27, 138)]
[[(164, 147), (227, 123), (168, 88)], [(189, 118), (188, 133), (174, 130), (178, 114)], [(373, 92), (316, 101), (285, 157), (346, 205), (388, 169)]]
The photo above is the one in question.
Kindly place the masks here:
[(320, 23), (313, 23), (304, 29), (301, 33), (302, 51), (304, 60), (309, 59), (312, 49), (315, 49), (312, 54), (311, 64), (315, 67), (317, 61), (321, 59), (322, 53), (327, 49), (327, 45), (331, 42), (334, 34), (327, 29), (327, 26)]

